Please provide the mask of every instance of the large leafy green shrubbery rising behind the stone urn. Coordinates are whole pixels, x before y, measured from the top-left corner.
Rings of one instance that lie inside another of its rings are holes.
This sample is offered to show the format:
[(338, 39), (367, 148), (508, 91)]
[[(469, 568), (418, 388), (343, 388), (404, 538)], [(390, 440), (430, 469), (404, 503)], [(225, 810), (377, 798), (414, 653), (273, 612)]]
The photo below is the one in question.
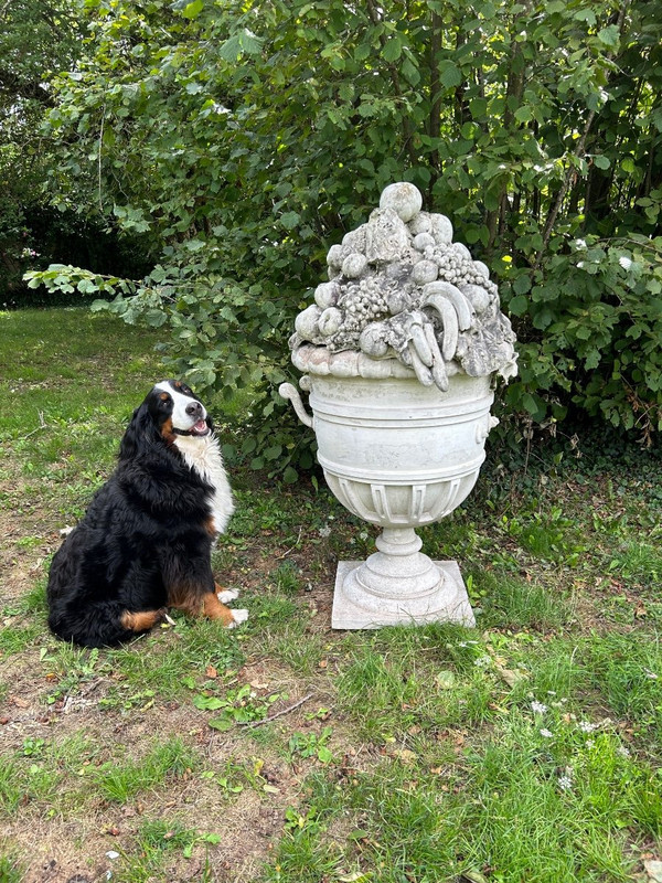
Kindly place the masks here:
[(654, 3), (86, 0), (85, 14), (84, 56), (53, 83), (51, 192), (160, 257), (124, 290), (62, 268), (32, 283), (83, 285), (162, 328), (201, 390), (254, 390), (256, 468), (295, 480), (311, 465), (276, 392), (285, 343), (329, 245), (402, 179), (502, 283), (522, 353), (511, 409), (559, 419), (576, 405), (650, 439)]

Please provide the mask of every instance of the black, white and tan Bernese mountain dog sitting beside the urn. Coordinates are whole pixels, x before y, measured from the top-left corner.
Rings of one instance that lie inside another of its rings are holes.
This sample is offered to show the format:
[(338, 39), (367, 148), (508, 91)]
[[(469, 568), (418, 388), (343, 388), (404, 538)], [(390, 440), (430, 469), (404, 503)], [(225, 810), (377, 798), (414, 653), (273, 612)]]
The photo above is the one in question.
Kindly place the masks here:
[(148, 631), (169, 607), (228, 628), (245, 621), (211, 564), (233, 511), (205, 407), (180, 381), (157, 383), (134, 412), (115, 472), (53, 557), (51, 630), (106, 647)]

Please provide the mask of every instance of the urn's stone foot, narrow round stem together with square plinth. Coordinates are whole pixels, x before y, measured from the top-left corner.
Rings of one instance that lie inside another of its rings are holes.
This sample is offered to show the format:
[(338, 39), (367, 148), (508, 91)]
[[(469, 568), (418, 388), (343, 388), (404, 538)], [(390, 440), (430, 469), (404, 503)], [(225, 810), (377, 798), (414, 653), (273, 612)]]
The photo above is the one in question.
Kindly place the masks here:
[(474, 626), (473, 611), (455, 561), (420, 552), (412, 528), (387, 528), (367, 561), (340, 562), (331, 625), (337, 629), (459, 623)]

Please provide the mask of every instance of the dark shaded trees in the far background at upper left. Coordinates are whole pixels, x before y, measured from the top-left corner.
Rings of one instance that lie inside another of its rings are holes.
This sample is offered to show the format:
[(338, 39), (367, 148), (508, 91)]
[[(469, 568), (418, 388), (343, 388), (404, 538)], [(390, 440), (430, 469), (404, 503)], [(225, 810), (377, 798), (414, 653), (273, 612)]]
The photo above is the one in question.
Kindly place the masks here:
[[(71, 71), (82, 49), (81, 0), (11, 0), (0, 6), (0, 299), (36, 306), (43, 294), (22, 283), (29, 267), (54, 260), (146, 273), (140, 237), (120, 242), (103, 217), (49, 204), (43, 185), (57, 145), (41, 131), (53, 106), (50, 79)], [(153, 263), (153, 262), (152, 262)], [(81, 299), (77, 295), (78, 300)], [(46, 302), (71, 302), (51, 291)]]

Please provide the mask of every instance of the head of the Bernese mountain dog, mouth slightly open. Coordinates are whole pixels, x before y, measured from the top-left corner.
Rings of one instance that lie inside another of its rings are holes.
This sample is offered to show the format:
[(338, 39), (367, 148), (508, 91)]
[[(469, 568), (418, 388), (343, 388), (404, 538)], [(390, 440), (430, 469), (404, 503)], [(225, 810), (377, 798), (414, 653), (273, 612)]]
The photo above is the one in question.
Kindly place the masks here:
[(134, 457), (145, 443), (172, 445), (180, 436), (204, 438), (214, 429), (206, 408), (179, 380), (157, 383), (145, 397), (121, 442), (120, 458)]

